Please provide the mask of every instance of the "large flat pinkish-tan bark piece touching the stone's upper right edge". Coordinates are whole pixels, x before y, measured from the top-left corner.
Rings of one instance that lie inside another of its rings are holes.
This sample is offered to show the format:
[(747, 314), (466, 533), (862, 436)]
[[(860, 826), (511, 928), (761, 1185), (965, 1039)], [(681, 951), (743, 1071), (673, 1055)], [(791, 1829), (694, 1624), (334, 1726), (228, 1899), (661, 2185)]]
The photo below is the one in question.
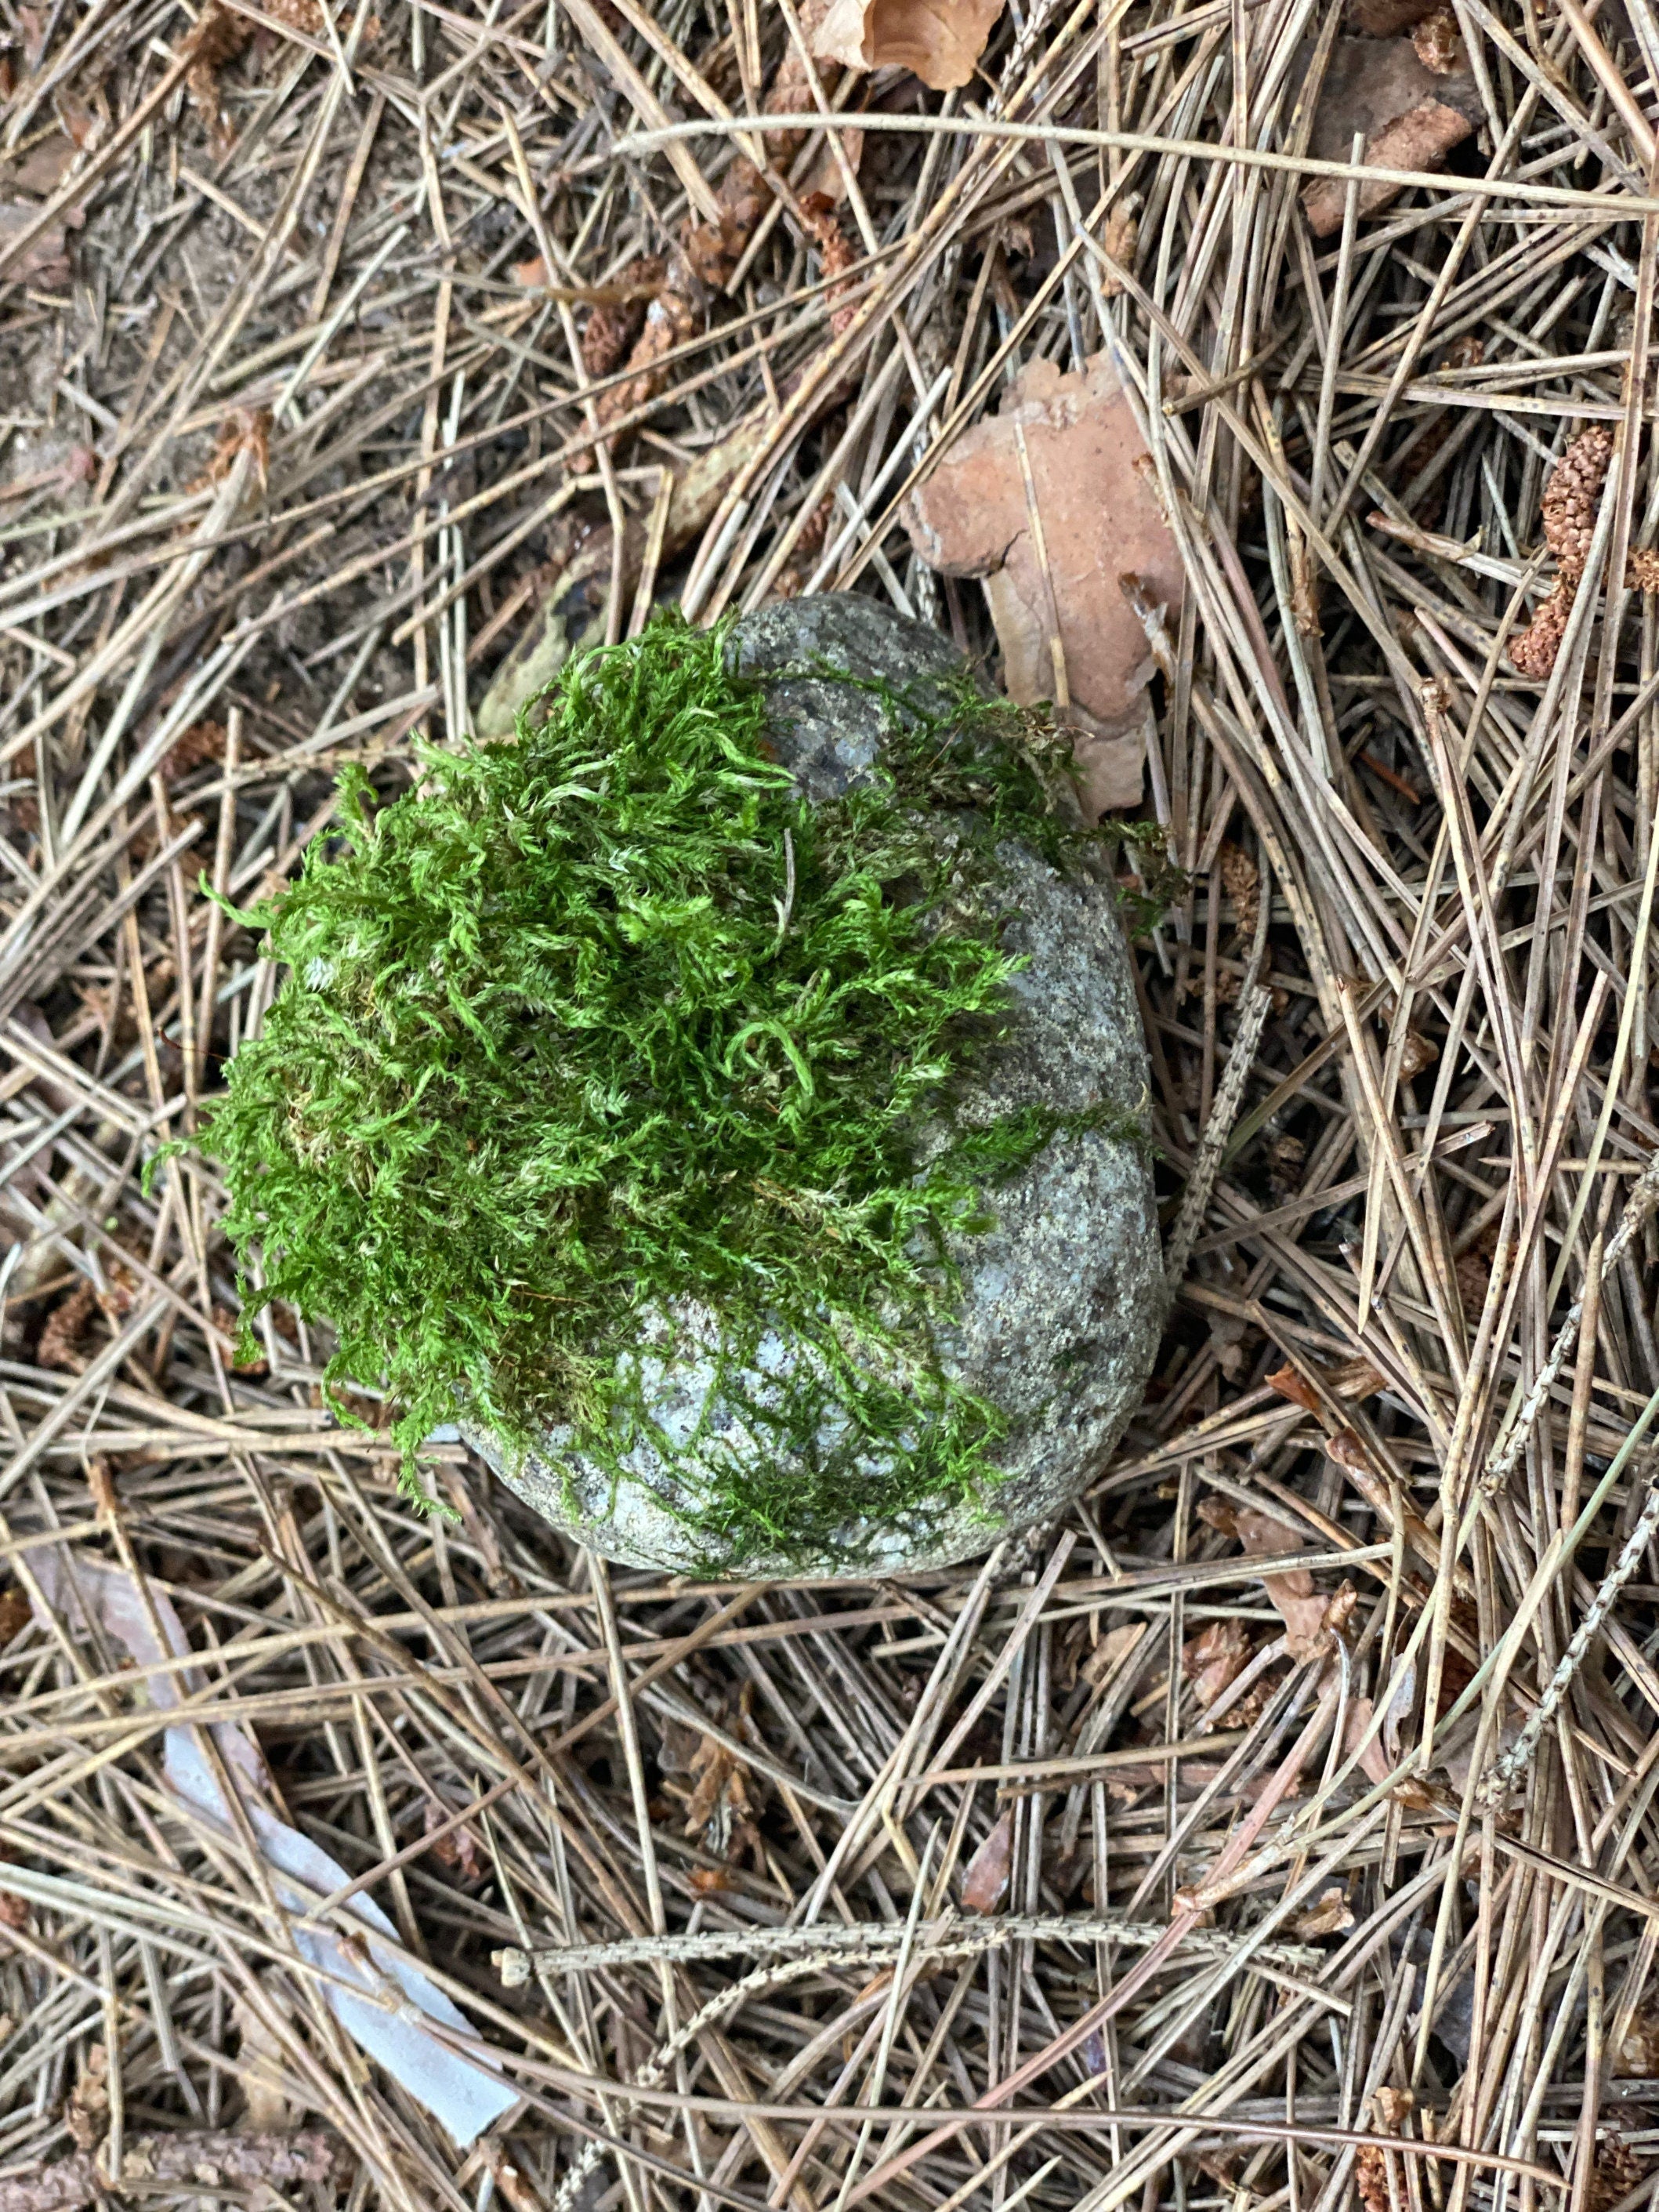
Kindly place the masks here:
[(956, 440), (902, 515), (929, 568), (982, 582), (1020, 706), (1055, 699), (1057, 639), (1068, 690), (1057, 719), (1077, 737), (1091, 821), (1139, 803), (1146, 761), (1155, 664), (1119, 577), (1133, 573), (1141, 597), (1170, 619), (1181, 604), (1181, 560), (1144, 467), (1146, 447), (1106, 354), (1071, 372), (1031, 361), (1002, 411)]

